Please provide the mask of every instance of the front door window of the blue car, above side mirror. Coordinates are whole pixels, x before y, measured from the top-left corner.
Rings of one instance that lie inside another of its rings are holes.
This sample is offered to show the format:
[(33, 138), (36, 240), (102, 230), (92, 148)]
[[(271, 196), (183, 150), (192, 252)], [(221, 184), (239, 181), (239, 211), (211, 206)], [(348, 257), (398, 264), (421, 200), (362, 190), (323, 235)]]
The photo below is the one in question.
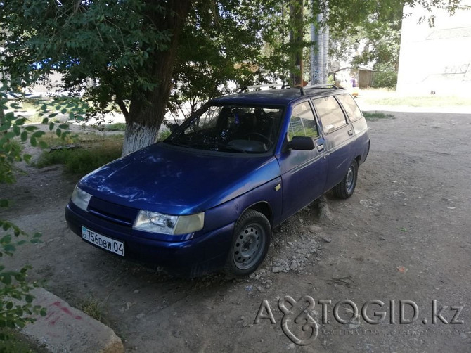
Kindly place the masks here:
[(316, 139), (319, 136), (314, 113), (309, 102), (299, 103), (292, 109), (288, 127), (288, 141), (294, 136), (307, 136)]

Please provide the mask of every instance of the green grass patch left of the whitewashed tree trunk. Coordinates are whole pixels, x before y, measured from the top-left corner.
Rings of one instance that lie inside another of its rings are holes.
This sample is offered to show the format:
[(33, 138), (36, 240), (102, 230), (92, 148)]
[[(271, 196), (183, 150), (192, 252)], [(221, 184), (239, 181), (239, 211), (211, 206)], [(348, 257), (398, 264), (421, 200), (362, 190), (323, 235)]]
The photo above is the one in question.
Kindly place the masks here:
[[(34, 167), (63, 164), (68, 174), (84, 175), (92, 170), (121, 157), (123, 136), (99, 136), (79, 134), (66, 139), (45, 136), (51, 147), (65, 146), (63, 149), (44, 150), (34, 162)], [(75, 148), (67, 148), (74, 145)]]

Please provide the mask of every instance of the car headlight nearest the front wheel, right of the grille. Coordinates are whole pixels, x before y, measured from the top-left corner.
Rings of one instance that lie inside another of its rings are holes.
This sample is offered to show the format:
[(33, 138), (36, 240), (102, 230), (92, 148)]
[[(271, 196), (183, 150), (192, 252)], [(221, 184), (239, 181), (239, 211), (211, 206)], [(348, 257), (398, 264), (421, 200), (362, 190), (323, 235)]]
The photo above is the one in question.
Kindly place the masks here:
[(134, 221), (133, 229), (176, 236), (200, 231), (203, 224), (205, 224), (205, 212), (190, 216), (171, 216), (141, 210)]

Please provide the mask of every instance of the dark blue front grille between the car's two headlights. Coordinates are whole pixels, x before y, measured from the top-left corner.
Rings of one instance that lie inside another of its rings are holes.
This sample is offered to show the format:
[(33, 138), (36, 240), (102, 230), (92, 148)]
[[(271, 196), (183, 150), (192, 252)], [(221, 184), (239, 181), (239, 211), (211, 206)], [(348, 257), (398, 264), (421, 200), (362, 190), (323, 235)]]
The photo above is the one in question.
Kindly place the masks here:
[(88, 210), (96, 217), (122, 226), (132, 226), (139, 212), (136, 208), (117, 205), (96, 197), (90, 199)]

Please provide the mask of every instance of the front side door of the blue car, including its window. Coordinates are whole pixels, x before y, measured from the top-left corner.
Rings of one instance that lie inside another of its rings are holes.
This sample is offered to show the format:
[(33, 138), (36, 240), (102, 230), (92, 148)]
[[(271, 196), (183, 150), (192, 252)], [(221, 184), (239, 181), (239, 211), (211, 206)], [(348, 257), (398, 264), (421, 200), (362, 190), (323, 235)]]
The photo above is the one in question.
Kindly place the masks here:
[(286, 141), (294, 136), (311, 137), (315, 147), (313, 150), (285, 148), (277, 156), (283, 181), (283, 219), (322, 195), (327, 177), (327, 153), (309, 101), (292, 107)]

